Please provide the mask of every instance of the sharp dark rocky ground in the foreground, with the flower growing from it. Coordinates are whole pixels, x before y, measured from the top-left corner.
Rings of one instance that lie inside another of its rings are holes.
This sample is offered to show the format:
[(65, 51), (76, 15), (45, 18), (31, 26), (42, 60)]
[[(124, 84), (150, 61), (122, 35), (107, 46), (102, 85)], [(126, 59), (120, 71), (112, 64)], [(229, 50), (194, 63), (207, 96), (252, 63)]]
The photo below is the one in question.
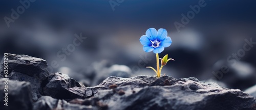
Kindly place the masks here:
[[(256, 109), (255, 96), (194, 77), (112, 76), (88, 87), (66, 74), (49, 73), (40, 58), (8, 54), (6, 78), (3, 60), (0, 66), (1, 109)], [(2, 91), (5, 80), (8, 106)]]

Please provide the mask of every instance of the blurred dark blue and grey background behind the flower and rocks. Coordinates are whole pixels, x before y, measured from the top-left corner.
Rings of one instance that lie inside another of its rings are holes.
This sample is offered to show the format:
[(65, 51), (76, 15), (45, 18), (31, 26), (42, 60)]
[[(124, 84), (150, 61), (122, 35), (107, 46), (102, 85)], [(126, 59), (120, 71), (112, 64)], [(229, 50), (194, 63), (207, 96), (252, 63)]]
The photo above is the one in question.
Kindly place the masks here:
[[(255, 3), (2, 0), (0, 56), (8, 52), (39, 57), (47, 60), (51, 73), (60, 71), (93, 86), (113, 75), (155, 75), (145, 68), (156, 67), (155, 54), (145, 53), (139, 38), (148, 28), (164, 28), (173, 43), (160, 57), (168, 54), (175, 61), (168, 62), (162, 74), (196, 77), (244, 91), (256, 84), (256, 45), (248, 44), (256, 42)], [(195, 13), (191, 7), (198, 6)], [(182, 14), (189, 20), (185, 24)], [(80, 33), (87, 38), (74, 46), (75, 34)], [(228, 72), (222, 72), (223, 66)]]

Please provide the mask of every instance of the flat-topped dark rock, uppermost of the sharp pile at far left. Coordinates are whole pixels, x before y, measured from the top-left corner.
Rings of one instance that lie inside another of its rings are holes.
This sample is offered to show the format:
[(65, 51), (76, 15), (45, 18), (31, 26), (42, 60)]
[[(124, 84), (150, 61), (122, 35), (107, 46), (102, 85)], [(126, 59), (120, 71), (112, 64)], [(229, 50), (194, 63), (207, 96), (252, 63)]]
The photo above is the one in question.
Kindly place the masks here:
[[(1, 68), (3, 68), (3, 62), (4, 58), (1, 62)], [(16, 71), (44, 80), (49, 76), (47, 67), (47, 62), (44, 59), (8, 53), (8, 74)]]

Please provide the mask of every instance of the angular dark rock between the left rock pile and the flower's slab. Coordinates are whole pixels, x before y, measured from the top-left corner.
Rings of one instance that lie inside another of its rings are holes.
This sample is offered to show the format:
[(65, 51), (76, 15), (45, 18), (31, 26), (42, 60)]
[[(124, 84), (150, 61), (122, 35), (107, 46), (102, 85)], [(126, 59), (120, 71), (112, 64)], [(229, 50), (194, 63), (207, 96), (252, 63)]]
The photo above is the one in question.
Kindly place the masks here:
[(57, 99), (85, 98), (85, 87), (67, 74), (56, 72), (48, 77), (48, 83), (44, 86), (45, 95)]

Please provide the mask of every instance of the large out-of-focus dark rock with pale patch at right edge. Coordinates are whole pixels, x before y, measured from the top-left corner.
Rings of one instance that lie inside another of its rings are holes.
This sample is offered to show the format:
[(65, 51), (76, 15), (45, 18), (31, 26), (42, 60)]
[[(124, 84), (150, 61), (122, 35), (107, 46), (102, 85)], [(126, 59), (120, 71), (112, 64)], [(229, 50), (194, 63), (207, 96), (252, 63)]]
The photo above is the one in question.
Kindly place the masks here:
[[(228, 72), (222, 72), (222, 66), (228, 68)], [(228, 88), (240, 89), (244, 91), (256, 83), (255, 69), (253, 65), (243, 61), (237, 61), (235, 65), (231, 65), (226, 59), (219, 60), (214, 64), (215, 72), (212, 74), (218, 81), (223, 82)]]

